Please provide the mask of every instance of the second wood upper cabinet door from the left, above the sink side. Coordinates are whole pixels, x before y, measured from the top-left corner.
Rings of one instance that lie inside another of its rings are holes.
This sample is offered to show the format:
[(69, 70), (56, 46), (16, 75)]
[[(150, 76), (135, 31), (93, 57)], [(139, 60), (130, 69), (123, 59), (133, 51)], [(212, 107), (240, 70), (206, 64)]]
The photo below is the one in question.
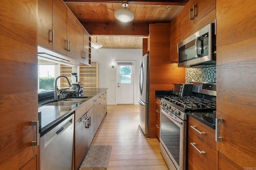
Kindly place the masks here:
[(54, 0), (52, 13), (54, 30), (52, 49), (67, 55), (67, 6), (62, 0)]

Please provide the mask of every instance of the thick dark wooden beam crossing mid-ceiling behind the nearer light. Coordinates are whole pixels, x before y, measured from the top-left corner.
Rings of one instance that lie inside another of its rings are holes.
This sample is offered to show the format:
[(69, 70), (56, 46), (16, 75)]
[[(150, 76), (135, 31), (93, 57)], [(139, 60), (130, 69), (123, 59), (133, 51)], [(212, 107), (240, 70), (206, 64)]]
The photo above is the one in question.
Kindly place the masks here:
[(81, 23), (90, 35), (143, 36), (149, 34), (149, 24), (144, 23)]

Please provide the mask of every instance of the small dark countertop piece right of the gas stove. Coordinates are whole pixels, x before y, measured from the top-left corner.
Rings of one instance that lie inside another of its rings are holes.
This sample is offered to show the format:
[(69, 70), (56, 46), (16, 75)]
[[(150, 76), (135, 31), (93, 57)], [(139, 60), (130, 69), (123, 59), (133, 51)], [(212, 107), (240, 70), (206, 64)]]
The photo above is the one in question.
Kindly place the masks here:
[(201, 123), (204, 123), (204, 125), (215, 129), (216, 116), (214, 116), (212, 111), (190, 111), (186, 112), (186, 114), (200, 121)]

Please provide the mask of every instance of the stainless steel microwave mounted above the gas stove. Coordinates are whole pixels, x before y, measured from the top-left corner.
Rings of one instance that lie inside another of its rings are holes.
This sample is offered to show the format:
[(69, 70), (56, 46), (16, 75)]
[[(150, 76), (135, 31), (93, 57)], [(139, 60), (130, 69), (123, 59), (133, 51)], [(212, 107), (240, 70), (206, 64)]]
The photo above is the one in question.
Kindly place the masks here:
[(216, 65), (215, 24), (211, 23), (178, 44), (178, 67)]

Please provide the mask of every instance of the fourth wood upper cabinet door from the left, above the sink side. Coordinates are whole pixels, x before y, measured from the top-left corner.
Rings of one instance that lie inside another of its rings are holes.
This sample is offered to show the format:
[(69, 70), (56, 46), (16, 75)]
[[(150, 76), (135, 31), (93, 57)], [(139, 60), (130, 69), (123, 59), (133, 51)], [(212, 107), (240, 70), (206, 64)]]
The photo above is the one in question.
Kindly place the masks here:
[(76, 37), (76, 43), (77, 43), (77, 53), (76, 53), (76, 59), (78, 61), (84, 61), (84, 27), (80, 24), (80, 22), (77, 21), (77, 37)]

